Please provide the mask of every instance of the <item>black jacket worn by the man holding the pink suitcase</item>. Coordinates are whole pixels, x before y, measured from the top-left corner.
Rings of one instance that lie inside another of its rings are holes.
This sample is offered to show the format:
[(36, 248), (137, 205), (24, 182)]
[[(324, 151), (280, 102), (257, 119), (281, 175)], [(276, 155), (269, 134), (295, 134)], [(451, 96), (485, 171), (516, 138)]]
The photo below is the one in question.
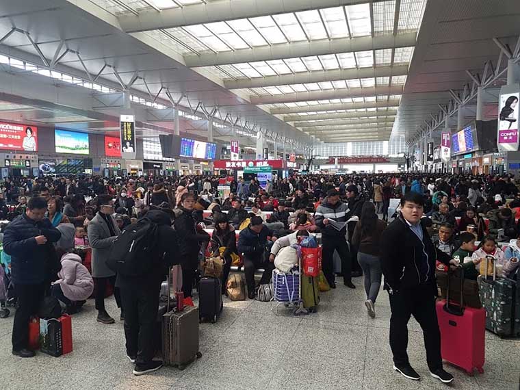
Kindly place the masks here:
[(385, 275), (385, 289), (400, 291), (428, 283), (432, 287), (432, 294), (437, 296), (435, 261), (447, 265), (451, 257), (435, 248), (426, 231), (425, 219), (421, 220), (422, 242), (402, 216), (393, 220), (382, 232), (380, 261)]

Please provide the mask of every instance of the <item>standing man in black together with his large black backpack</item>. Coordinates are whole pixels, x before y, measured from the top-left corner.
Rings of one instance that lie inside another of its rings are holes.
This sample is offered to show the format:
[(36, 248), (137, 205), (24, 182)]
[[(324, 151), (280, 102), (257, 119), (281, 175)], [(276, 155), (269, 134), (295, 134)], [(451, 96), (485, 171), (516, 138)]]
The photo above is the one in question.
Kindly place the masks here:
[[(146, 229), (141, 239), (135, 238), (133, 242), (122, 239), (125, 234), (139, 229)], [(129, 248), (118, 248), (120, 240), (122, 246)], [(121, 291), (125, 313), (127, 358), (135, 363), (133, 374), (142, 375), (163, 365), (162, 361), (152, 359), (161, 281), (170, 266), (179, 263), (179, 240), (172, 229), (170, 216), (161, 210), (148, 211), (144, 218), (122, 231), (114, 243), (114, 252), (121, 250), (127, 254), (134, 252), (133, 259), (126, 257), (124, 268), (118, 269), (116, 287)]]

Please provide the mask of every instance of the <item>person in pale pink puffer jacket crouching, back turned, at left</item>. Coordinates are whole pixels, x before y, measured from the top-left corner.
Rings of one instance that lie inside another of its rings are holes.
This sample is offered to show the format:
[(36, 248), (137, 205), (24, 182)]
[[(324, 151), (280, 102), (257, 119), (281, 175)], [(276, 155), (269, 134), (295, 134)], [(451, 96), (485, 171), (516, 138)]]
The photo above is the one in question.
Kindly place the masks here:
[(64, 254), (61, 263), (59, 279), (51, 287), (51, 295), (66, 304), (68, 314), (74, 314), (92, 295), (94, 279), (75, 253)]

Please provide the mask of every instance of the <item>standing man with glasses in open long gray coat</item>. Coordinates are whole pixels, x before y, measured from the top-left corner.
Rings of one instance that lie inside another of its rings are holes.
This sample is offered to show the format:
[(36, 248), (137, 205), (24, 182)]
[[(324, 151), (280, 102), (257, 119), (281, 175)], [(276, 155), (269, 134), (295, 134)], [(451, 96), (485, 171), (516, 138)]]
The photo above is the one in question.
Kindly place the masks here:
[[(112, 217), (114, 214), (114, 200), (106, 194), (98, 196), (99, 211), (88, 224), (88, 241), (92, 247), (92, 277), (94, 278), (97, 321), (102, 324), (114, 324), (114, 318), (105, 310), (105, 291), (107, 283), (114, 287), (114, 296), (118, 307), (121, 307), (119, 289), (116, 285), (116, 273), (107, 267), (107, 259), (114, 240), (121, 233), (118, 224)], [(124, 316), (121, 311), (120, 320)]]

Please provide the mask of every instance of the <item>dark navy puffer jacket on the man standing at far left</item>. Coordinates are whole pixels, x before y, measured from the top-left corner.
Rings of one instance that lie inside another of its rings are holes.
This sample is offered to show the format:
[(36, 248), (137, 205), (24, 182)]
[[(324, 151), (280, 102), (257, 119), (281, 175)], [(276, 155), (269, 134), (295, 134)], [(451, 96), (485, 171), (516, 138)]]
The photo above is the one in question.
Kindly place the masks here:
[[(47, 244), (36, 244), (34, 237), (38, 235), (47, 237)], [(43, 283), (55, 276), (49, 274), (59, 271), (59, 266), (54, 267), (56, 259), (53, 257), (55, 252), (52, 243), (57, 242), (60, 237), (62, 233), (47, 218), (36, 222), (25, 213), (14, 218), (3, 233), (3, 250), (11, 255), (14, 283)]]

